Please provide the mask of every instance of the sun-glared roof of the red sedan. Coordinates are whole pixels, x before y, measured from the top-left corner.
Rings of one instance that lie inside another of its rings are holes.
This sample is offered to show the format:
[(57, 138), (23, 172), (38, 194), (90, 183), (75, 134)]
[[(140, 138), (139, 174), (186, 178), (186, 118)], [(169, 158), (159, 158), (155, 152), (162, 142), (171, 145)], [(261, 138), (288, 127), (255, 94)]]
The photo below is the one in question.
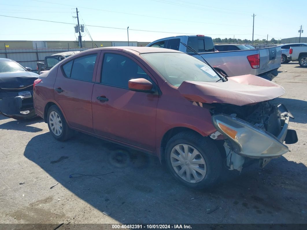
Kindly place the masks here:
[(95, 50), (113, 50), (113, 51), (124, 51), (124, 52), (132, 52), (132, 53), (183, 53), (174, 49), (165, 49), (159, 47), (146, 47), (146, 46), (111, 46), (111, 47), (102, 47), (95, 49), (88, 49), (84, 52), (90, 52)]

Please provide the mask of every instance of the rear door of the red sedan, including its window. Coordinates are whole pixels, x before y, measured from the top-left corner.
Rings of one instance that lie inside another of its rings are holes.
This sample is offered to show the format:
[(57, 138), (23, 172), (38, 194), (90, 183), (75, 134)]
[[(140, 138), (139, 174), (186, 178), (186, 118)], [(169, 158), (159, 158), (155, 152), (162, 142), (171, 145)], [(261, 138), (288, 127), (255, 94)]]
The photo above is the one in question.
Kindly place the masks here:
[(54, 84), (55, 100), (67, 122), (75, 128), (93, 132), (91, 98), (100, 51), (86, 52), (64, 62)]

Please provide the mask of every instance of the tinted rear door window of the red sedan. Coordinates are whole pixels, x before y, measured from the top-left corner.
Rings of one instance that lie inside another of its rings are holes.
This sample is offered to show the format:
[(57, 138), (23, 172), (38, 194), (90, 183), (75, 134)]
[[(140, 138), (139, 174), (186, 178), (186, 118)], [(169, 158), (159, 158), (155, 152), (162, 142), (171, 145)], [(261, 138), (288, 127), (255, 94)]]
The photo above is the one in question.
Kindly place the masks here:
[(92, 81), (96, 58), (96, 53), (76, 58), (63, 65), (63, 72), (69, 78)]

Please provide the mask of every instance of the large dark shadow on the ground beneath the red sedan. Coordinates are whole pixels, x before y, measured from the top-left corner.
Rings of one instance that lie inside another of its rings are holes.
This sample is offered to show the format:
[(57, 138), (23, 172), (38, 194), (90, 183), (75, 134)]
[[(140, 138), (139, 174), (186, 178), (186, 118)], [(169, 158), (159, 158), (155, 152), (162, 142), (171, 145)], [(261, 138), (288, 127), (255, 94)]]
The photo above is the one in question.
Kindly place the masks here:
[(50, 133), (37, 135), (24, 156), (121, 223), (242, 223), (242, 213), (247, 223), (307, 220), (301, 213), (306, 166), (284, 157), (266, 169), (253, 165), (241, 175), (229, 171), (216, 187), (193, 190), (173, 179), (158, 158), (86, 134), (67, 142), (57, 142)]

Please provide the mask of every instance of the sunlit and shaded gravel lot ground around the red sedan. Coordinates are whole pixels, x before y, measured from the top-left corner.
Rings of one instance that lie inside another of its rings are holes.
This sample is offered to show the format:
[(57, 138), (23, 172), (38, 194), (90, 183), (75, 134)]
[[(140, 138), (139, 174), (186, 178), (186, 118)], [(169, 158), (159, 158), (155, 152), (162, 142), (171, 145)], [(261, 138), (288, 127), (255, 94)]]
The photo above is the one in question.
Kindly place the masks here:
[(41, 119), (0, 115), (0, 223), (307, 223), (307, 68), (279, 71), (286, 94), (275, 100), (295, 116), (299, 141), (264, 169), (229, 171), (203, 191), (181, 186), (155, 157), (80, 133), (58, 142)]

